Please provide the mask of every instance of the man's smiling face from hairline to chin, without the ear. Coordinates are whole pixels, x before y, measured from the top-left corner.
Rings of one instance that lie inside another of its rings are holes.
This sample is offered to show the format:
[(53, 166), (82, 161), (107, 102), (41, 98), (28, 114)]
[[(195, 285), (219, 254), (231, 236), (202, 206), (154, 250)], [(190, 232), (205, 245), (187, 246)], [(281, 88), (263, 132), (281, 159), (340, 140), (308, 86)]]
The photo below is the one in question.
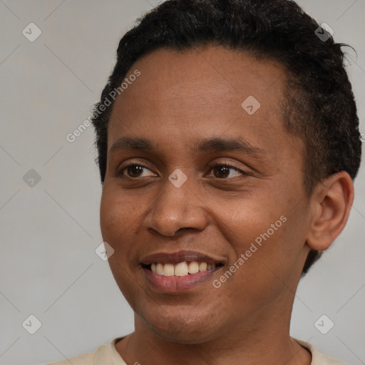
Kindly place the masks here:
[(108, 126), (101, 232), (136, 323), (190, 344), (274, 323), (310, 215), (284, 67), (209, 46), (159, 49), (135, 70)]

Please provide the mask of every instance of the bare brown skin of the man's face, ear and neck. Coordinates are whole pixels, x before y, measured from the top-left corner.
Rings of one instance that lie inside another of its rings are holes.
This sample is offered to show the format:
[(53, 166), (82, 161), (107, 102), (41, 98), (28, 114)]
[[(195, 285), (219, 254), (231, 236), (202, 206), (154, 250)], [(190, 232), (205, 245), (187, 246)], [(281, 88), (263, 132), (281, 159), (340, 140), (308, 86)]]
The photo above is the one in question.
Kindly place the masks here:
[[(158, 49), (128, 75), (135, 69), (140, 76), (110, 117), (101, 198), (103, 240), (115, 250), (110, 269), (135, 312), (135, 331), (115, 348), (127, 364), (310, 364), (310, 352), (289, 336), (294, 294), (309, 247), (326, 250), (346, 224), (351, 178), (337, 173), (306, 195), (304, 143), (282, 123), (281, 64), (207, 46)], [(248, 96), (261, 104), (253, 115), (241, 106)], [(148, 138), (158, 150), (111, 152), (124, 136)], [(190, 150), (213, 137), (240, 138), (262, 154)], [(125, 169), (131, 163), (147, 168)], [(175, 169), (187, 177), (181, 187), (168, 180)], [(281, 216), (282, 227), (213, 287)], [(156, 291), (141, 257), (179, 250), (225, 267), (191, 290)]]

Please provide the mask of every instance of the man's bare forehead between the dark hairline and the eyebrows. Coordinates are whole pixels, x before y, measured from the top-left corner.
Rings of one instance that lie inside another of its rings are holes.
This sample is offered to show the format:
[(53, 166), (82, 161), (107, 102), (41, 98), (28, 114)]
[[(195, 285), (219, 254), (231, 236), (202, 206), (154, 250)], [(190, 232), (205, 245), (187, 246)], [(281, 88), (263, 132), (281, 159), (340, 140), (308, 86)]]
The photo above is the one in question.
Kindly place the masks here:
[(140, 76), (115, 101), (108, 148), (125, 134), (173, 145), (224, 135), (272, 149), (288, 140), (280, 63), (222, 46), (160, 48), (135, 62), (126, 78), (135, 70)]

